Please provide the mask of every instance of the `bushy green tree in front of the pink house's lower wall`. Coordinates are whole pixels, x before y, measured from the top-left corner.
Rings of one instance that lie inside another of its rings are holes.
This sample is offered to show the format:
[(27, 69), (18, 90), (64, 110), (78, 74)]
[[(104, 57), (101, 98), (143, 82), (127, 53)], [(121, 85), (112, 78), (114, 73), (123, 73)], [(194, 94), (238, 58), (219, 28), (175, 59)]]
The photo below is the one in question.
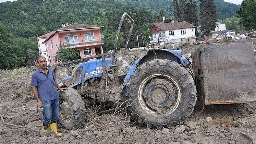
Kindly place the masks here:
[(80, 53), (75, 51), (73, 48), (60, 47), (56, 52), (55, 61), (72, 61), (78, 59), (78, 56), (80, 57)]

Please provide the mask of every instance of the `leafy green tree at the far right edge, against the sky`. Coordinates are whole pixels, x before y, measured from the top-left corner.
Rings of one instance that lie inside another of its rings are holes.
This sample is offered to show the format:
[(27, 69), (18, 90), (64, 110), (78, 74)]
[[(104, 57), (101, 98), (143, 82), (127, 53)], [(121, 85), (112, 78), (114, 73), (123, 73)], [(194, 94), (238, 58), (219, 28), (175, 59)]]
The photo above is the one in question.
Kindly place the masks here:
[(246, 30), (256, 30), (255, 0), (243, 0), (237, 13), (240, 16), (240, 24), (243, 25)]

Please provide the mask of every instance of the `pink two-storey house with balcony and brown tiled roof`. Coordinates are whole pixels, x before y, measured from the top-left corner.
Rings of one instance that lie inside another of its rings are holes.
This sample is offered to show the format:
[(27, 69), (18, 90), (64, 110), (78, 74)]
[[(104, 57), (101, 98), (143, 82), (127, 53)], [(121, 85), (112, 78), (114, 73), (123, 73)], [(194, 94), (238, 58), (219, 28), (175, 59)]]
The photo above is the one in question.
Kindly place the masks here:
[(78, 23), (68, 25), (68, 22), (63, 23), (60, 29), (44, 40), (49, 65), (60, 63), (59, 61), (55, 62), (56, 52), (60, 47), (74, 48), (74, 50), (80, 53), (78, 58), (86, 58), (103, 53), (102, 28), (104, 26)]

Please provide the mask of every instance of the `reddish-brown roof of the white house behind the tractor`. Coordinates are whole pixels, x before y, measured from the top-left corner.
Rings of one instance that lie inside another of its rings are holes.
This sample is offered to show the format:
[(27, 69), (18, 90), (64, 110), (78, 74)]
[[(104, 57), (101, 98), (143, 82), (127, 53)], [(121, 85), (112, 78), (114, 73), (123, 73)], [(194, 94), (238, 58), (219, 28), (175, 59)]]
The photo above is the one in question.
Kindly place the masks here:
[[(186, 28), (192, 28), (195, 27), (192, 24), (188, 22), (167, 22), (167, 23), (155, 23), (152, 28), (156, 26), (160, 29), (160, 31), (165, 31), (165, 30), (178, 30), (178, 29), (186, 29)], [(151, 29), (152, 29), (151, 28)], [(150, 30), (151, 31), (151, 30)], [(152, 32), (153, 33), (153, 32)], [(152, 34), (150, 33), (150, 34)]]

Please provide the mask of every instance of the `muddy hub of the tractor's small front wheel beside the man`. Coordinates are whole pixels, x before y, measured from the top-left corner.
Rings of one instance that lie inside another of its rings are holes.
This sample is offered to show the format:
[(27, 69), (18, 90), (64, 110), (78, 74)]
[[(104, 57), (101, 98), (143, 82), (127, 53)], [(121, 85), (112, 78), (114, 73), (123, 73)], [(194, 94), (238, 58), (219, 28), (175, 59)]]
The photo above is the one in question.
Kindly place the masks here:
[(65, 123), (69, 123), (71, 120), (71, 109), (68, 102), (64, 100), (60, 102), (60, 117)]

